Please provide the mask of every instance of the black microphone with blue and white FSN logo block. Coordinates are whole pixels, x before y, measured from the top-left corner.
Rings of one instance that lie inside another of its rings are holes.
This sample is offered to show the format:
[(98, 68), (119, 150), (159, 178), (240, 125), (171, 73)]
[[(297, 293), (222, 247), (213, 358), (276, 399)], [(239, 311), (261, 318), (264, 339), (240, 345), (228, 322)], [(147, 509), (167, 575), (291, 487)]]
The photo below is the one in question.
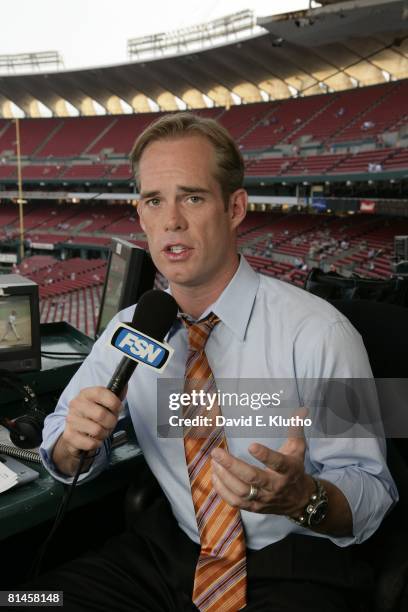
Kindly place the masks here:
[(177, 318), (178, 304), (165, 291), (151, 289), (137, 303), (132, 323), (119, 323), (110, 344), (122, 357), (107, 389), (119, 397), (139, 362), (162, 371), (173, 350), (162, 344), (164, 336)]

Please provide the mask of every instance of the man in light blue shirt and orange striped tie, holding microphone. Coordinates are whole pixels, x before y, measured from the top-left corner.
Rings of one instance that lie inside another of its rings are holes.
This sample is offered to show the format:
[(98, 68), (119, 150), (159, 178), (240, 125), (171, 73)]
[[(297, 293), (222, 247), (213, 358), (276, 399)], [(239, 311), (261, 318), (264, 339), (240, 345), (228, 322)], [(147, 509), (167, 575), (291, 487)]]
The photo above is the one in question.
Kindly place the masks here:
[[(189, 113), (162, 117), (139, 137), (132, 161), (150, 252), (184, 313), (167, 337), (175, 352), (166, 378), (189, 388), (205, 372), (214, 389), (221, 379), (371, 376), (361, 338), (340, 313), (239, 258), (244, 165), (221, 126)], [(119, 359), (106, 341), (132, 313), (108, 326), (47, 418), (41, 453), (62, 481), (83, 450), (81, 480), (107, 464), (122, 404), (104, 388)], [(222, 428), (209, 443), (160, 438), (158, 378), (138, 368), (126, 400), (169, 505), (158, 502), (99, 555), (45, 576), (43, 588), (59, 586), (68, 609), (81, 612), (353, 609), (348, 546), (369, 537), (397, 498), (383, 441), (306, 443), (299, 429), (286, 439), (251, 441)]]

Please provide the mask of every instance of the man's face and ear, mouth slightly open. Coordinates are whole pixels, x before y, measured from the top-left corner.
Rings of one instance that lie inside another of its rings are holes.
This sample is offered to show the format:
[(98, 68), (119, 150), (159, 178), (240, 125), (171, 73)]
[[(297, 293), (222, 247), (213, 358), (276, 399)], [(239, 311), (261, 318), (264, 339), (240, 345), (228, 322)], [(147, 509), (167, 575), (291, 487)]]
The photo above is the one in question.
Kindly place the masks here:
[(213, 145), (196, 135), (153, 142), (140, 159), (141, 225), (173, 286), (210, 287), (235, 271), (246, 194), (235, 192), (226, 210), (215, 164)]

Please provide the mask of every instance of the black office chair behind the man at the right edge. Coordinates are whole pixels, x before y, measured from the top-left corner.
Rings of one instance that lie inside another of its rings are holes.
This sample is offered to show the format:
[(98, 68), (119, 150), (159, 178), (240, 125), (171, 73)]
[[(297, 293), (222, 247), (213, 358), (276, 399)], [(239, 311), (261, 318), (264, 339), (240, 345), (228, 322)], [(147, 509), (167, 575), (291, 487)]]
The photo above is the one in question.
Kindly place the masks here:
[[(332, 300), (363, 338), (375, 378), (408, 378), (408, 309), (385, 302)], [(407, 398), (408, 402), (408, 398)], [(381, 411), (387, 406), (381, 406)], [(387, 440), (387, 462), (400, 501), (378, 531), (356, 547), (375, 572), (376, 612), (408, 610), (408, 440)]]

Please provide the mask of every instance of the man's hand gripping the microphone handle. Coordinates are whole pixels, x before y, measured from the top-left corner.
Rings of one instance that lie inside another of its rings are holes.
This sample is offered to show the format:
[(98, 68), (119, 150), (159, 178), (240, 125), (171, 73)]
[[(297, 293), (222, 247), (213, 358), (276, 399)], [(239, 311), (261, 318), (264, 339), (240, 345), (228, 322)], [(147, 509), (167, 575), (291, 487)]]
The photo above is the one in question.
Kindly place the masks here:
[[(75, 473), (81, 451), (89, 453), (92, 459), (96, 450), (115, 429), (121, 407), (121, 400), (105, 387), (82, 389), (69, 402), (65, 429), (52, 455), (62, 473)], [(88, 460), (84, 470), (88, 469), (89, 464)]]

